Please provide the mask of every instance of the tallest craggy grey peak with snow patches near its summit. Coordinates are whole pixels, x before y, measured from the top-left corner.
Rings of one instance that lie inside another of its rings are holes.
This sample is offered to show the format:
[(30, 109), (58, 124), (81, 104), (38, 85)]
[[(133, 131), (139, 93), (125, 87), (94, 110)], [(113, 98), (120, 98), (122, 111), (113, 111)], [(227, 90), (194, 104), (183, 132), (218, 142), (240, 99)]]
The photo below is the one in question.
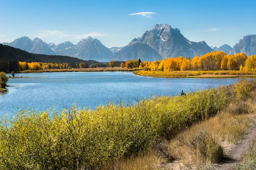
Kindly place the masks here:
[(213, 51), (206, 42), (192, 42), (183, 37), (178, 28), (168, 24), (156, 24), (150, 31), (132, 40), (135, 43), (147, 44), (157, 51), (163, 58), (167, 57), (194, 57)]

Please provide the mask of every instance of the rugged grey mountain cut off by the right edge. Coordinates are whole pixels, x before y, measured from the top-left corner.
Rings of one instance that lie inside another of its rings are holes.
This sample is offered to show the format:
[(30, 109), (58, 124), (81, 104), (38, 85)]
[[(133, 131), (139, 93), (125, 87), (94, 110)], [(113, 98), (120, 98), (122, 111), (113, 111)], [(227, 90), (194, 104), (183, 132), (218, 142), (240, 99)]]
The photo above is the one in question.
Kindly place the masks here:
[(256, 35), (244, 36), (234, 47), (232, 54), (244, 53), (247, 56), (256, 54)]

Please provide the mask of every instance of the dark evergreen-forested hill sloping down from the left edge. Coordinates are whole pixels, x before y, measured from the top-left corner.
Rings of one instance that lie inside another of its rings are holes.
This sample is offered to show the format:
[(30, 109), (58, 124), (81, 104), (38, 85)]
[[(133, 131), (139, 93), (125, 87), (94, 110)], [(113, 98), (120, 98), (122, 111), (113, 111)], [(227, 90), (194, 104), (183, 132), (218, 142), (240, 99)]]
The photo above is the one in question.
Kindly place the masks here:
[(76, 57), (32, 54), (9, 45), (0, 44), (0, 60), (16, 60), (26, 62), (49, 62), (49, 63), (79, 63), (84, 62), (86, 65), (98, 64), (94, 60), (83, 60)]

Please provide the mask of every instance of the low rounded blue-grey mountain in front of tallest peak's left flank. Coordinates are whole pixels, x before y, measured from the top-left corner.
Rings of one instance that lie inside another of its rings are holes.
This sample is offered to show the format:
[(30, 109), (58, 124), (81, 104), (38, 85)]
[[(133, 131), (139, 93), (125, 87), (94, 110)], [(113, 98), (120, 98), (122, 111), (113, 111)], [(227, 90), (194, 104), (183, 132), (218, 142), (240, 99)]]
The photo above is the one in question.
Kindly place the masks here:
[(160, 54), (147, 44), (135, 43), (123, 47), (113, 54), (114, 60), (141, 59), (142, 61), (154, 61), (163, 59)]

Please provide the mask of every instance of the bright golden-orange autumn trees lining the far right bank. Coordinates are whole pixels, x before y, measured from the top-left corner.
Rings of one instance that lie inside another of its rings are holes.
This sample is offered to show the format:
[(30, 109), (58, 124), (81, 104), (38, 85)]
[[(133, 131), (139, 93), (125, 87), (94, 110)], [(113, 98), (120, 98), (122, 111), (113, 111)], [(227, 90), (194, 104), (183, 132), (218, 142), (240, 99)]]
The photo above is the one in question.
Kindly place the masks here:
[(212, 51), (200, 57), (171, 57), (154, 62), (141, 62), (139, 67), (151, 71), (186, 71), (186, 70), (240, 70), (256, 71), (256, 55), (248, 57), (244, 53), (235, 55), (223, 51)]

